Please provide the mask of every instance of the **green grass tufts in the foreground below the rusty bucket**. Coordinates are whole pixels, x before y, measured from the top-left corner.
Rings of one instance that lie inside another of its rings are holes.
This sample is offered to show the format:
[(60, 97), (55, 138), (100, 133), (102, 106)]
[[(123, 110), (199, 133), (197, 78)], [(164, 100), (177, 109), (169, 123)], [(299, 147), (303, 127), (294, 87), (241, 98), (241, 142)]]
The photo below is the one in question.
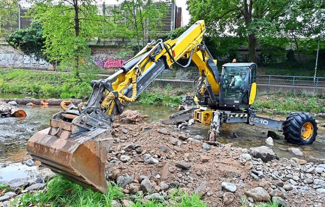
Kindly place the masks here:
[[(111, 206), (112, 200), (119, 201), (120, 199), (127, 199), (123, 194), (123, 189), (114, 183), (109, 183), (109, 189), (106, 194), (93, 192), (90, 189), (85, 189), (78, 184), (72, 183), (61, 176), (54, 176), (53, 180), (48, 182), (47, 188), (36, 193), (26, 193), (20, 199), (15, 198), (12, 201), (13, 206), (64, 206), (64, 207), (101, 207)], [(142, 196), (137, 196), (137, 199)], [(175, 189), (170, 195), (170, 203), (175, 207), (206, 207), (205, 201), (200, 199), (201, 196), (197, 194), (187, 194)], [(164, 207), (171, 206), (165, 200), (150, 200), (146, 203), (135, 201), (133, 207)]]

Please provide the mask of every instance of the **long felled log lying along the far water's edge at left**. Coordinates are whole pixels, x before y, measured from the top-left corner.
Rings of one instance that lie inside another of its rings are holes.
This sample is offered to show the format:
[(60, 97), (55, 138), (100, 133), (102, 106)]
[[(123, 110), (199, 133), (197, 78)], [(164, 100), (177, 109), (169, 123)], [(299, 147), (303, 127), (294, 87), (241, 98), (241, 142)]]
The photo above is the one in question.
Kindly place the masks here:
[(19, 105), (26, 105), (27, 103), (32, 103), (35, 105), (42, 105), (41, 101), (43, 103), (48, 103), (47, 105), (49, 106), (58, 106), (60, 103), (64, 100), (71, 100), (73, 104), (79, 104), (82, 102), (81, 99), (0, 99), (0, 102), (10, 102), (10, 101), (16, 101), (17, 104)]

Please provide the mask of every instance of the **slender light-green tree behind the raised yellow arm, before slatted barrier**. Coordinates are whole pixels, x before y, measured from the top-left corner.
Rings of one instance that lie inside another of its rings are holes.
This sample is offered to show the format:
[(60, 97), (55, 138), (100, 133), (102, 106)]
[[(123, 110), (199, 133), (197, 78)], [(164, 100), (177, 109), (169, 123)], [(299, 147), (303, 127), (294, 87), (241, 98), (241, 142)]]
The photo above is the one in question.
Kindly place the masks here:
[(160, 19), (164, 17), (165, 11), (166, 7), (163, 2), (123, 0), (119, 7), (113, 9), (112, 19), (117, 20), (115, 23), (122, 27), (122, 31), (127, 33), (129, 38), (137, 39), (140, 51), (149, 31), (157, 31), (156, 26), (161, 25)]

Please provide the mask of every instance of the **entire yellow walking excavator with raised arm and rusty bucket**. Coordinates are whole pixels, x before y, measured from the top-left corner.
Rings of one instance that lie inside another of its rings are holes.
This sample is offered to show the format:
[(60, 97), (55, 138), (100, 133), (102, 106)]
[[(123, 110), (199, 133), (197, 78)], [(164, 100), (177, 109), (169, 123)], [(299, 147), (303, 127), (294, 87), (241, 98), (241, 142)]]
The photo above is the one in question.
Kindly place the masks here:
[[(126, 61), (106, 79), (92, 80), (93, 91), (87, 102), (75, 106), (61, 103), (50, 128), (34, 134), (26, 150), (46, 167), (72, 181), (107, 192), (105, 162), (110, 146), (112, 123), (116, 115), (148, 87), (164, 69), (176, 64), (187, 67), (192, 61), (200, 75), (194, 80), (194, 95), (188, 97), (182, 111), (192, 110), (195, 120), (211, 125), (211, 140), (223, 123), (247, 123), (282, 131), (285, 139), (311, 144), (317, 135), (315, 119), (305, 113), (291, 114), (285, 121), (257, 116), (251, 104), (256, 95), (256, 64), (228, 63), (219, 75), (214, 60), (204, 45), (203, 20), (197, 21), (177, 39), (153, 40), (135, 57)], [(177, 61), (188, 59), (186, 65)], [(193, 104), (194, 103), (194, 104)]]

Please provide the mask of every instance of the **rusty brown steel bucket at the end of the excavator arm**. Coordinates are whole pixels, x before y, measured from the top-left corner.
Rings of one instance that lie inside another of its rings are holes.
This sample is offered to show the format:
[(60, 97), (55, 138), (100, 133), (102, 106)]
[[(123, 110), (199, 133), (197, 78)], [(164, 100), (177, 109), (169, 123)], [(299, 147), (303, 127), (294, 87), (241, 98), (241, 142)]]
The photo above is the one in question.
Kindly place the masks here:
[(100, 115), (92, 115), (91, 110), (59, 112), (52, 117), (50, 128), (28, 140), (26, 150), (53, 172), (106, 193), (105, 162), (113, 138), (111, 127)]

